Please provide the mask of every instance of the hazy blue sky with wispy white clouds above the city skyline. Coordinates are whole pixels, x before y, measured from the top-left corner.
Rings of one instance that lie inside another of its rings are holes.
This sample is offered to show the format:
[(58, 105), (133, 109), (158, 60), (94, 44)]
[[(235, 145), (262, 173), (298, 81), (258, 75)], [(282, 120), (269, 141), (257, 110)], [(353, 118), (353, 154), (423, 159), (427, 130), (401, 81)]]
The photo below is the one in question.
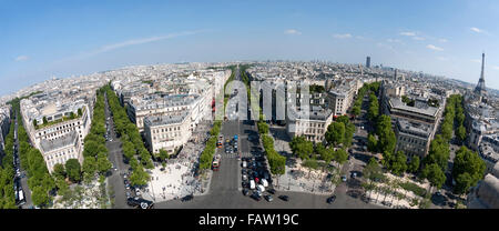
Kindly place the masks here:
[(499, 89), (499, 1), (0, 0), (0, 94), (130, 64), (329, 60)]

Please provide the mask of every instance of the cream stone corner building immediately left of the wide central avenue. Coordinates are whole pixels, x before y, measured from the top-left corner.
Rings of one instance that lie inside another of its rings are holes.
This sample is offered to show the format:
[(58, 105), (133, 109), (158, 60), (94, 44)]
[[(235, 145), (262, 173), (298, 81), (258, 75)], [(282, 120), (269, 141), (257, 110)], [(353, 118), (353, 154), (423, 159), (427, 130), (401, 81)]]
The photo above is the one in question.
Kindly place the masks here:
[(164, 149), (174, 153), (192, 134), (190, 112), (172, 116), (153, 116), (144, 119), (144, 134), (149, 151), (157, 153)]

